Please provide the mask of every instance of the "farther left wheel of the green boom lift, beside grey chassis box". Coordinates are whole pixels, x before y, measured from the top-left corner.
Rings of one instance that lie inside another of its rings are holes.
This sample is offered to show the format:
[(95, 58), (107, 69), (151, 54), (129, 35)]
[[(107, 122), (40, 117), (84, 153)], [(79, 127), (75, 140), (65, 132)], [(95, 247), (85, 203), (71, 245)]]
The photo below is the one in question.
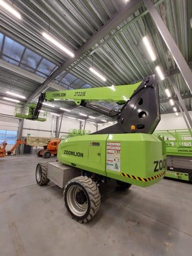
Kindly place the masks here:
[(50, 182), (47, 178), (48, 164), (46, 161), (37, 164), (35, 177), (39, 186), (47, 185)]

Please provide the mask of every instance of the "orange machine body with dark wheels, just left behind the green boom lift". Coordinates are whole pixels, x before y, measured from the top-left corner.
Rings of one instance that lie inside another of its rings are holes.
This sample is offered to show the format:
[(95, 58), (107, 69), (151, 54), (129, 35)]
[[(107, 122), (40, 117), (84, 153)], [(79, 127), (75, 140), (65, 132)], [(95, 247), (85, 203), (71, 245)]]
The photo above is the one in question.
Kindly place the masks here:
[(44, 146), (44, 149), (40, 149), (37, 152), (37, 156), (43, 156), (43, 158), (50, 158), (53, 154), (54, 156), (57, 156), (57, 149), (58, 145), (61, 140), (52, 140), (50, 141), (47, 146)]

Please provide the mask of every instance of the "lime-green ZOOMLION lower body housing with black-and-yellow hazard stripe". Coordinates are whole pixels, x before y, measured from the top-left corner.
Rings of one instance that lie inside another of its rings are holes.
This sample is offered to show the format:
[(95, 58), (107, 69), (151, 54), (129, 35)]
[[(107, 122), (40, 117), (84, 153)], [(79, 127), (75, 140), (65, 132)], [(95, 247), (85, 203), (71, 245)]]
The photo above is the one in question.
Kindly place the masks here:
[(163, 178), (165, 158), (163, 142), (144, 133), (85, 135), (61, 141), (58, 147), (61, 163), (140, 187)]

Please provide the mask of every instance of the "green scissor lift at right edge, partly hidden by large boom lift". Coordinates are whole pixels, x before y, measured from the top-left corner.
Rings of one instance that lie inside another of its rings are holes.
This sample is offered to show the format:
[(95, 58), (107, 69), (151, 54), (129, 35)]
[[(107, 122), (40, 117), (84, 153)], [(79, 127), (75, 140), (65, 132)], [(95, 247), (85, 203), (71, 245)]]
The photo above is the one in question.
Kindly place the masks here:
[(192, 129), (155, 131), (166, 143), (165, 177), (192, 182)]

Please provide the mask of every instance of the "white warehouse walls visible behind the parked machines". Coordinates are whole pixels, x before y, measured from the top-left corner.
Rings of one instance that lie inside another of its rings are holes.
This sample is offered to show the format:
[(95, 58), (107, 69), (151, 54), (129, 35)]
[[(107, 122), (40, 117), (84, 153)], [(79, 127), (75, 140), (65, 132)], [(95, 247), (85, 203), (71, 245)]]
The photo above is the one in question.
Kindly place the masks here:
[[(3, 102), (0, 102), (0, 130), (7, 130), (12, 129), (15, 131), (15, 129), (18, 129), (18, 125), (15, 126), (15, 123), (11, 122), (13, 125), (9, 124), (8, 122), (5, 122), (4, 117), (9, 116), (10, 118), (14, 116), (14, 104), (10, 103), (10, 105), (5, 105)], [(192, 111), (189, 111), (189, 115), (192, 117)], [(25, 119), (23, 123), (23, 132), (22, 137), (27, 137), (28, 134), (32, 137), (55, 137), (55, 130), (56, 130), (56, 116), (50, 115), (49, 112), (47, 113), (47, 120), (46, 122), (38, 122), (38, 121), (30, 121)], [(61, 117), (59, 118), (61, 119)], [(106, 123), (102, 125), (98, 125), (98, 130), (104, 129), (111, 124)], [(8, 129), (9, 128), (9, 129)], [(82, 129), (84, 128), (84, 122), (82, 122)], [(63, 116), (62, 124), (61, 124), (61, 131), (60, 131), (60, 137), (61, 135), (67, 135), (69, 129), (80, 129), (80, 122), (77, 120), (69, 119), (66, 116)], [(175, 116), (175, 114), (164, 114), (161, 115), (161, 121), (159, 122), (156, 131), (159, 130), (172, 130), (172, 129), (187, 129), (187, 125), (182, 117), (182, 114), (179, 113), (179, 116)], [(86, 122), (85, 124), (85, 130), (89, 130), (91, 132), (97, 131), (97, 128), (94, 124)], [(53, 131), (53, 134), (51, 134), (51, 131)], [(11, 147), (11, 146), (10, 146)]]

